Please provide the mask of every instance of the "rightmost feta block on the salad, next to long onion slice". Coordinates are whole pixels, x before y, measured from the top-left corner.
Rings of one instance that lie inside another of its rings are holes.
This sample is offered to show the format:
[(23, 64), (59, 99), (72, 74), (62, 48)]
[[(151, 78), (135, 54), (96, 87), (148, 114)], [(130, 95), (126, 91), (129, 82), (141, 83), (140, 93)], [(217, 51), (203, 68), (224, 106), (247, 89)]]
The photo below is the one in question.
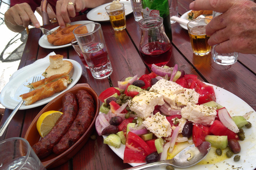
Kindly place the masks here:
[(216, 107), (203, 105), (195, 105), (188, 103), (180, 112), (181, 116), (193, 123), (201, 123), (203, 125), (211, 125), (217, 115)]

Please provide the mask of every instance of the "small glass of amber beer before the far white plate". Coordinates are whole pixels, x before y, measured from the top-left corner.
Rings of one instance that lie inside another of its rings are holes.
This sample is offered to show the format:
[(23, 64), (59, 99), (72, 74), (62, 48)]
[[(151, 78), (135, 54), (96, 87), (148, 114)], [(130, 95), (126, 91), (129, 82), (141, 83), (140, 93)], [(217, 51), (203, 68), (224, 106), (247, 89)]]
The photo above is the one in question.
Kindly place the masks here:
[(113, 3), (105, 7), (109, 20), (115, 31), (126, 28), (125, 12), (123, 3)]

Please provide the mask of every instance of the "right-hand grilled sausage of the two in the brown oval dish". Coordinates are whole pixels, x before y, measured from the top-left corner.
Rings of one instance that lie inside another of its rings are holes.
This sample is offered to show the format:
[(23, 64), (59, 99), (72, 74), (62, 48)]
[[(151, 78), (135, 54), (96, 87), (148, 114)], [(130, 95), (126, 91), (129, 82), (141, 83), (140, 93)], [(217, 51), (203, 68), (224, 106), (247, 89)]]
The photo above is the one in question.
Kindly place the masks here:
[(76, 94), (79, 111), (68, 132), (53, 147), (54, 154), (62, 154), (74, 145), (86, 132), (95, 116), (95, 106), (92, 96), (85, 90), (79, 90)]

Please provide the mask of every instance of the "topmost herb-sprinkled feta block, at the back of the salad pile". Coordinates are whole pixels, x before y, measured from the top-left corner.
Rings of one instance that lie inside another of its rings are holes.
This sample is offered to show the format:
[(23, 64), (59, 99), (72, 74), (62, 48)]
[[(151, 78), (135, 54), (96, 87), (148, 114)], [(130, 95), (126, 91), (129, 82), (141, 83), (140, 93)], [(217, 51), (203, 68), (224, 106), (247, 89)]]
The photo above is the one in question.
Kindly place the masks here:
[(149, 91), (154, 91), (163, 95), (166, 103), (169, 105), (175, 105), (175, 98), (178, 94), (183, 94), (183, 92), (185, 92), (185, 88), (173, 81), (161, 79), (157, 81)]

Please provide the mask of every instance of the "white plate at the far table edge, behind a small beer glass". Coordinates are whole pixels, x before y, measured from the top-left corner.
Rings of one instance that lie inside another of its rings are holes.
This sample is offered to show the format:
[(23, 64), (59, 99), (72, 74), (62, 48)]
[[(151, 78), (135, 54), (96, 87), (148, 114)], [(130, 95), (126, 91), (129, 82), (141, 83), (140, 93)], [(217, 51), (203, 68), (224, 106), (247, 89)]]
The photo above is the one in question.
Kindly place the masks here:
[[(103, 4), (93, 8), (91, 11), (87, 13), (87, 19), (92, 21), (109, 21), (109, 16), (105, 10), (105, 7), (108, 6), (110, 3)], [(128, 15), (133, 12), (131, 1), (120, 1), (120, 3), (124, 4), (125, 15)]]

